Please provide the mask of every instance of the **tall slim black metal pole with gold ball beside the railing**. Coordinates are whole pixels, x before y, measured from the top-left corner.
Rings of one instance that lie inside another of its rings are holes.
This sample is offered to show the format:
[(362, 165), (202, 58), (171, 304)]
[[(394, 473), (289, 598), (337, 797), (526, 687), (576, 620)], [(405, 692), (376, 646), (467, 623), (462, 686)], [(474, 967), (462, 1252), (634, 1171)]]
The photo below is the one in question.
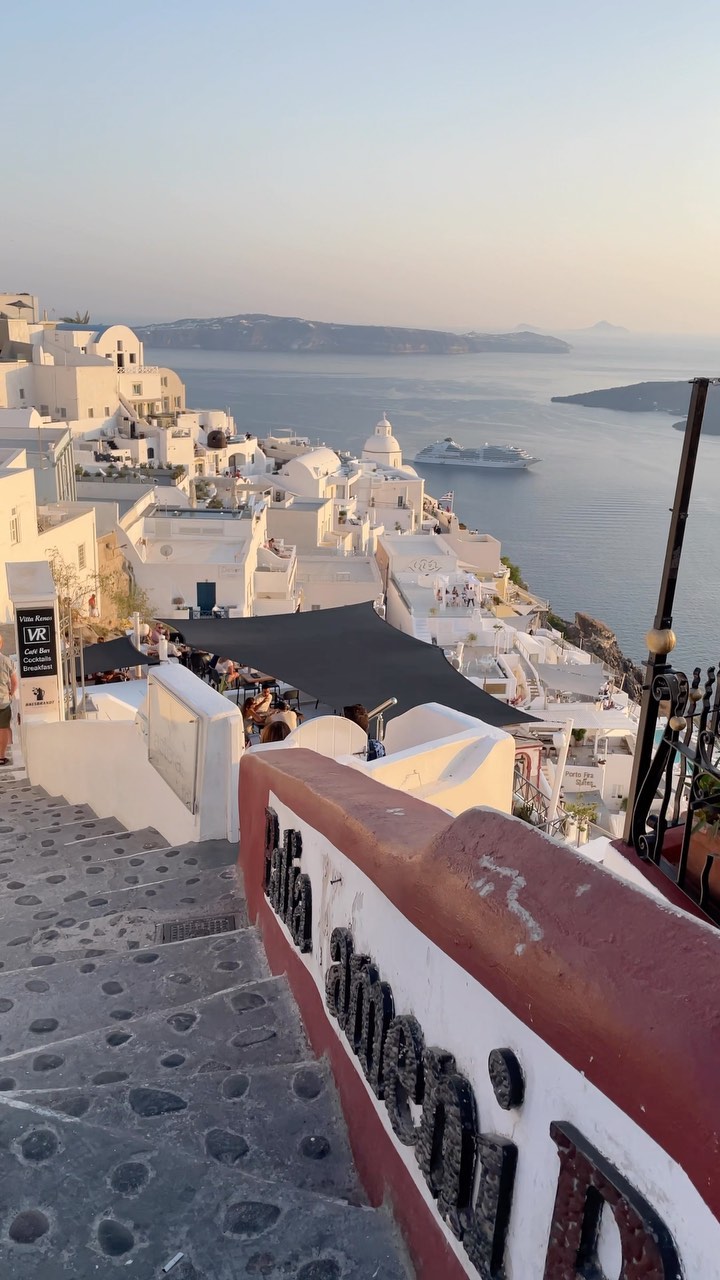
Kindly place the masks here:
[[(680, 553), (685, 536), (691, 493), (693, 486), (694, 467), (697, 462), (697, 449), (702, 419), (705, 415), (705, 402), (707, 389), (714, 379), (696, 378), (692, 384), (691, 404), (688, 408), (688, 421), (683, 438), (683, 452), (680, 456), (680, 468), (678, 471), (678, 484), (675, 486), (675, 499), (671, 507), (670, 532), (667, 534), (667, 547), (665, 549), (665, 563), (662, 566), (662, 579), (660, 581), (660, 595), (657, 599), (657, 613), (655, 614), (655, 628), (669, 630), (673, 626), (673, 603), (675, 600), (675, 588), (680, 568)], [(669, 667), (667, 653), (648, 653), (643, 680), (643, 694), (641, 703), (641, 718), (638, 724), (638, 739), (633, 759), (633, 773), (630, 777), (630, 790), (628, 794), (628, 812), (625, 817), (625, 831), (623, 838), (630, 842), (633, 826), (633, 812), (638, 787), (650, 769), (652, 748), (655, 742), (655, 730), (657, 727), (657, 703), (652, 696), (652, 682), (655, 677)]]

